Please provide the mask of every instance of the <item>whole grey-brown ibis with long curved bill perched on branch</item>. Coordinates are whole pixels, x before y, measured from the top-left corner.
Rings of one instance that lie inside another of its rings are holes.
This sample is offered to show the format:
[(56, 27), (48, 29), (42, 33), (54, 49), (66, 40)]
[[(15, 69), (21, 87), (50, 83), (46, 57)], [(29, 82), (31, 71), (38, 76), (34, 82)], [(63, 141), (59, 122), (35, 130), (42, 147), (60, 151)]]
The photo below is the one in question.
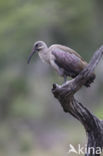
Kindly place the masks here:
[[(51, 65), (60, 76), (64, 77), (64, 83), (67, 81), (68, 76), (75, 78), (88, 65), (75, 50), (61, 44), (53, 44), (48, 47), (44, 41), (36, 41), (34, 43), (32, 52), (27, 60), (28, 64), (36, 52), (42, 62)], [(84, 85), (90, 87), (95, 78), (96, 75), (93, 72)]]

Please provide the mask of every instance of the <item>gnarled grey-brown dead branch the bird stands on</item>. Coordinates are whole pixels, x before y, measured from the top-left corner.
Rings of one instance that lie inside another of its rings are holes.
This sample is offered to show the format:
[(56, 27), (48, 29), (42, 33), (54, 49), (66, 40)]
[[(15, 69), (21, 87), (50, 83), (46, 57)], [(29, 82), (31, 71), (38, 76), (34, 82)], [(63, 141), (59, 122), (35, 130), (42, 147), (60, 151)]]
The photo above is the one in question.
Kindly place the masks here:
[[(87, 153), (85, 156), (100, 156), (97, 149), (103, 148), (103, 121), (99, 120), (83, 104), (78, 102), (74, 95), (81, 89), (85, 82), (94, 72), (103, 55), (103, 46), (101, 46), (93, 55), (88, 66), (75, 78), (67, 81), (63, 85), (53, 84), (52, 93), (63, 107), (64, 112), (70, 113), (78, 119), (84, 126), (87, 137)], [(94, 149), (90, 150), (90, 149)]]

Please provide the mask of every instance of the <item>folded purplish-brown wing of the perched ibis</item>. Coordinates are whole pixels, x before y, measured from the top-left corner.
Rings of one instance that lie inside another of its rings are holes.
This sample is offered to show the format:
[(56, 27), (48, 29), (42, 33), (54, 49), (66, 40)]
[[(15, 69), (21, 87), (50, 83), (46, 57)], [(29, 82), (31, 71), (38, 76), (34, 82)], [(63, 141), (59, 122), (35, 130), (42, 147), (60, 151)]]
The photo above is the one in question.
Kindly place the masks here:
[(68, 76), (75, 77), (87, 65), (80, 55), (77, 53), (66, 52), (66, 49), (55, 47), (51, 49), (55, 56), (55, 63), (63, 68)]

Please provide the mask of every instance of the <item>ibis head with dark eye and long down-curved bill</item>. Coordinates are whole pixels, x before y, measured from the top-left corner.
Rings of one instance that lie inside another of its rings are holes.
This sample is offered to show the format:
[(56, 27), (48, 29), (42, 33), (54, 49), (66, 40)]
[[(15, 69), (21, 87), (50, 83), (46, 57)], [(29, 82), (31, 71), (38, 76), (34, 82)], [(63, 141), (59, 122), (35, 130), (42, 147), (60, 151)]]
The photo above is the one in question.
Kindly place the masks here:
[(32, 48), (32, 52), (31, 52), (27, 62), (30, 63), (30, 60), (31, 60), (32, 56), (34, 55), (34, 53), (42, 52), (43, 49), (45, 49), (45, 48), (47, 48), (47, 45), (45, 42), (43, 42), (43, 41), (35, 42), (33, 45), (33, 48)]

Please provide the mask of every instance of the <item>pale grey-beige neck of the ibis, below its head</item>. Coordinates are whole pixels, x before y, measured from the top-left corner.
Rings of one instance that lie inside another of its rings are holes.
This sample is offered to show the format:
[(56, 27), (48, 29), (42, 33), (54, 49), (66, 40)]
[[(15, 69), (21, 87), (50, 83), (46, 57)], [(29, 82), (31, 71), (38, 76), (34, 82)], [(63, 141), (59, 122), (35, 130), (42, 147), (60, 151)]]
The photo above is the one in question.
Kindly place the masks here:
[(49, 48), (43, 49), (38, 54), (42, 62), (49, 63), (49, 58), (50, 58)]

